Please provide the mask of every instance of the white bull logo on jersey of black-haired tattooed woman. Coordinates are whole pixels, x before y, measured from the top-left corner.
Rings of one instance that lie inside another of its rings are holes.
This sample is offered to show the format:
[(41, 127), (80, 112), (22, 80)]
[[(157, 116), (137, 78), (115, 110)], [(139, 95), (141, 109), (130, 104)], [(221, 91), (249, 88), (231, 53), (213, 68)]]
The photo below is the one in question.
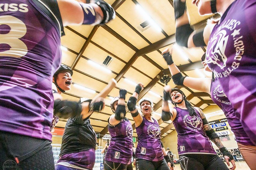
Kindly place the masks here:
[(189, 114), (186, 114), (183, 117), (183, 122), (187, 126), (187, 128), (189, 128), (191, 130), (198, 131), (198, 130), (201, 130), (203, 127), (202, 120), (197, 115), (190, 116)]

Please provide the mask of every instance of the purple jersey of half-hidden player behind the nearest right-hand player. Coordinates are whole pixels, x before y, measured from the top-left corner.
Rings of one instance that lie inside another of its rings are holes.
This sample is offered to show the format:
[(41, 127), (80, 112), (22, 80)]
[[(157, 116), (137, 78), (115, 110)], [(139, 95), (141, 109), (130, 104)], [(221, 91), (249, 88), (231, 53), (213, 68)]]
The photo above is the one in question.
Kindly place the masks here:
[(224, 112), (231, 130), (235, 134), (235, 140), (243, 145), (254, 145), (249, 136), (245, 133), (240, 120), (237, 118), (237, 116), (235, 116), (231, 102), (229, 99), (227, 99), (227, 96), (223, 92), (218, 79), (215, 79), (215, 81), (211, 83), (211, 98), (213, 102), (217, 104)]

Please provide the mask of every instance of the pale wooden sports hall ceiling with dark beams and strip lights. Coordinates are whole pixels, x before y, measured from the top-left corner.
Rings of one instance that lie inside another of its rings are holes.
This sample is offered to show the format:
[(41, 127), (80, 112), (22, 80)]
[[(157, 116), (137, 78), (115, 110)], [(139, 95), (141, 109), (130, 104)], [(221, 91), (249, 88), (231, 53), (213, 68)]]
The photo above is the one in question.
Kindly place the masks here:
[[(81, 0), (81, 2), (86, 2)], [(164, 84), (159, 76), (170, 74), (161, 52), (173, 47), (173, 59), (184, 75), (211, 77), (203, 69), (201, 57), (205, 48), (184, 49), (175, 44), (175, 22), (172, 0), (106, 0), (116, 11), (116, 18), (103, 26), (68, 26), (61, 38), (62, 63), (74, 70), (71, 90), (62, 94), (63, 99), (78, 101), (80, 97), (93, 99), (111, 78), (117, 80), (117, 87), (106, 97), (106, 107), (90, 116), (95, 132), (108, 133), (107, 120), (113, 112), (110, 102), (119, 95), (119, 89), (127, 90), (126, 101), (132, 95), (136, 83), (143, 83), (144, 90), (139, 99), (149, 97), (154, 102), (153, 117), (158, 120), (162, 137), (175, 130), (171, 121), (161, 120), (162, 92)], [(187, 0), (190, 23), (195, 29), (203, 28), (210, 16), (199, 16), (197, 8)], [(139, 25), (146, 20), (151, 23), (142, 32)], [(152, 21), (153, 20), (153, 21)], [(107, 67), (102, 63), (107, 56), (113, 58)], [(157, 76), (159, 75), (159, 76)], [(172, 79), (168, 83), (175, 87)], [(210, 96), (194, 89), (180, 88), (187, 99), (196, 107), (205, 109), (214, 105)], [(138, 100), (139, 100), (138, 99)], [(171, 105), (171, 104), (170, 104)], [(173, 107), (173, 106), (172, 106)], [(133, 118), (126, 114), (137, 133)], [(66, 120), (56, 127), (64, 128)]]

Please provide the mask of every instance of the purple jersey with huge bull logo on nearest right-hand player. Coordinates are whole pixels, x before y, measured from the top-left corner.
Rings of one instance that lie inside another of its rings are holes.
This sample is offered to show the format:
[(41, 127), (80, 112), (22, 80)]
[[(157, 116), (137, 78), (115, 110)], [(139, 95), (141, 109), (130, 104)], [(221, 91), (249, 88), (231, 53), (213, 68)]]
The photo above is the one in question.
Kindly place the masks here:
[(234, 1), (210, 35), (206, 62), (256, 144), (256, 1)]

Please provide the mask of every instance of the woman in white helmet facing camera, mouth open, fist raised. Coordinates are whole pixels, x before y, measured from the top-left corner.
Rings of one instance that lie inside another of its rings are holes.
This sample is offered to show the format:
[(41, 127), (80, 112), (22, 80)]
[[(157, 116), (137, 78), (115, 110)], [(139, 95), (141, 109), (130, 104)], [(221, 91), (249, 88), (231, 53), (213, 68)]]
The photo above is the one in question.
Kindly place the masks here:
[(138, 93), (134, 93), (127, 102), (138, 135), (138, 146), (135, 152), (136, 170), (169, 170), (171, 160), (160, 140), (161, 130), (158, 122), (152, 117), (153, 101), (146, 97), (139, 100), (142, 112), (139, 114), (136, 108), (137, 99)]

